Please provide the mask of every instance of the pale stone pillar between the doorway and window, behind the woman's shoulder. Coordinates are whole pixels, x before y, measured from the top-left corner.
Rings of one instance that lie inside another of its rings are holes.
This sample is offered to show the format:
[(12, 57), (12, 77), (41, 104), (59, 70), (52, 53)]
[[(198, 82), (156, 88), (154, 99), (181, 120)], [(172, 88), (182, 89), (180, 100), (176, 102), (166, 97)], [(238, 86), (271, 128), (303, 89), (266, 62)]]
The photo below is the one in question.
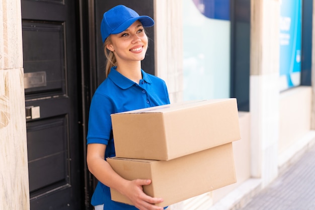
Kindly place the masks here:
[(171, 102), (183, 100), (182, 0), (155, 0), (156, 75), (163, 78)]

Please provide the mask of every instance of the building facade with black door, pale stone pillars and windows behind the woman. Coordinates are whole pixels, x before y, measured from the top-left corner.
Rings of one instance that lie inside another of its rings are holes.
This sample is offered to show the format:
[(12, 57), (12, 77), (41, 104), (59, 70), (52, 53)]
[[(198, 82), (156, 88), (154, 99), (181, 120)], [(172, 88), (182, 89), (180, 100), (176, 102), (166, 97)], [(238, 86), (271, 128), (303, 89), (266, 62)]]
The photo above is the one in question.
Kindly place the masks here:
[(117, 4), (155, 20), (142, 67), (166, 81), (171, 102), (238, 99), (237, 183), (170, 208), (244, 204), (315, 142), (314, 6), (293, 1), (300, 10), (292, 15), (284, 2), (3, 0), (0, 208), (92, 209), (85, 137), (89, 102), (105, 78), (98, 26)]

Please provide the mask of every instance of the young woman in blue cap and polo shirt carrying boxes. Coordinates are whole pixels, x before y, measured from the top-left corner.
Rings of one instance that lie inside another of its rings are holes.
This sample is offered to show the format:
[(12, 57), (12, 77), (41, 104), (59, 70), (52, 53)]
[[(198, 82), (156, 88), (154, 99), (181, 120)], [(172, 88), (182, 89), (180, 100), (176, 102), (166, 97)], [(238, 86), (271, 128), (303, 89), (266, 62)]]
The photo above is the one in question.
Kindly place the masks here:
[[(154, 205), (163, 198), (150, 197), (142, 190), (151, 180), (126, 180), (106, 162), (107, 157), (115, 156), (111, 114), (170, 103), (165, 82), (141, 69), (148, 46), (144, 27), (153, 25), (150, 17), (139, 16), (122, 5), (103, 16), (107, 78), (93, 95), (87, 137), (88, 167), (99, 180), (91, 202), (96, 210), (163, 209)], [(112, 201), (110, 187), (127, 196), (134, 206)]]

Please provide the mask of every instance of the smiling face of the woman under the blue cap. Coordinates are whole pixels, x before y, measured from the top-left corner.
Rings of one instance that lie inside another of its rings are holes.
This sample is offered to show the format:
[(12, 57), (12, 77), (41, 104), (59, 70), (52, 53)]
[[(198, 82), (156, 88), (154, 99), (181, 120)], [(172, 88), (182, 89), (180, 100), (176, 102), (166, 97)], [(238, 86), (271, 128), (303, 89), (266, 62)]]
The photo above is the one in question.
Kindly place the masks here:
[(139, 21), (134, 22), (128, 29), (112, 34), (111, 43), (106, 47), (112, 51), (117, 62), (141, 61), (145, 57), (148, 39)]

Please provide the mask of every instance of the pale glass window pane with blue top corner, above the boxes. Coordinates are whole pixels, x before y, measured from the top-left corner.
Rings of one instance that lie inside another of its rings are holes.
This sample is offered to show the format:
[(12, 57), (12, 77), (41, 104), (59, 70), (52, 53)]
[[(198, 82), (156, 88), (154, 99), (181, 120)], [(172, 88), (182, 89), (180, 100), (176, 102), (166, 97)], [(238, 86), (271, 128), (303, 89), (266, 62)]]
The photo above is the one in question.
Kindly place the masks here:
[(229, 0), (183, 0), (184, 100), (230, 96)]

